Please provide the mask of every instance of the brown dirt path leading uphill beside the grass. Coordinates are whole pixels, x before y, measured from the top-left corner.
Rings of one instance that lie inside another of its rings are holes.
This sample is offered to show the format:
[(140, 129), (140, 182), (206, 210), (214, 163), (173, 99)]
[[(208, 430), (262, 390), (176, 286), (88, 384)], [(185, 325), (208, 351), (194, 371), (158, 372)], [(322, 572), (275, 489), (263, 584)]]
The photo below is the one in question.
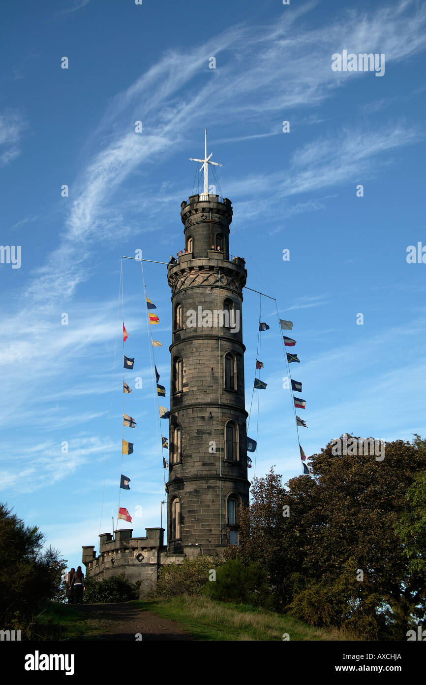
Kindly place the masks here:
[[(76, 607), (77, 608), (77, 607)], [(150, 611), (142, 611), (130, 603), (82, 604), (79, 612), (88, 625), (100, 628), (101, 634), (83, 640), (132, 640), (142, 634), (142, 640), (195, 640), (181, 630), (178, 623), (161, 619)], [(140, 640), (140, 638), (139, 638)]]

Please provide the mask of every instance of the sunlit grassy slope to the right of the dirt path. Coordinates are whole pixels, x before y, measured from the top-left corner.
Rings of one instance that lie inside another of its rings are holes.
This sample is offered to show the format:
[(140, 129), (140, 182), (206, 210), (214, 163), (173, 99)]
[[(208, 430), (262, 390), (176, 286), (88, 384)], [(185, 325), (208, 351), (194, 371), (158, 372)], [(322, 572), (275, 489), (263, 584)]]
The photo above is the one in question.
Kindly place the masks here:
[[(135, 602), (142, 610), (150, 610), (163, 619), (176, 621), (198, 640), (273, 641), (283, 640), (356, 640), (340, 630), (323, 630), (285, 614), (276, 614), (245, 604), (215, 601), (209, 597), (181, 595), (168, 599)], [(287, 638), (288, 639), (288, 638)]]

